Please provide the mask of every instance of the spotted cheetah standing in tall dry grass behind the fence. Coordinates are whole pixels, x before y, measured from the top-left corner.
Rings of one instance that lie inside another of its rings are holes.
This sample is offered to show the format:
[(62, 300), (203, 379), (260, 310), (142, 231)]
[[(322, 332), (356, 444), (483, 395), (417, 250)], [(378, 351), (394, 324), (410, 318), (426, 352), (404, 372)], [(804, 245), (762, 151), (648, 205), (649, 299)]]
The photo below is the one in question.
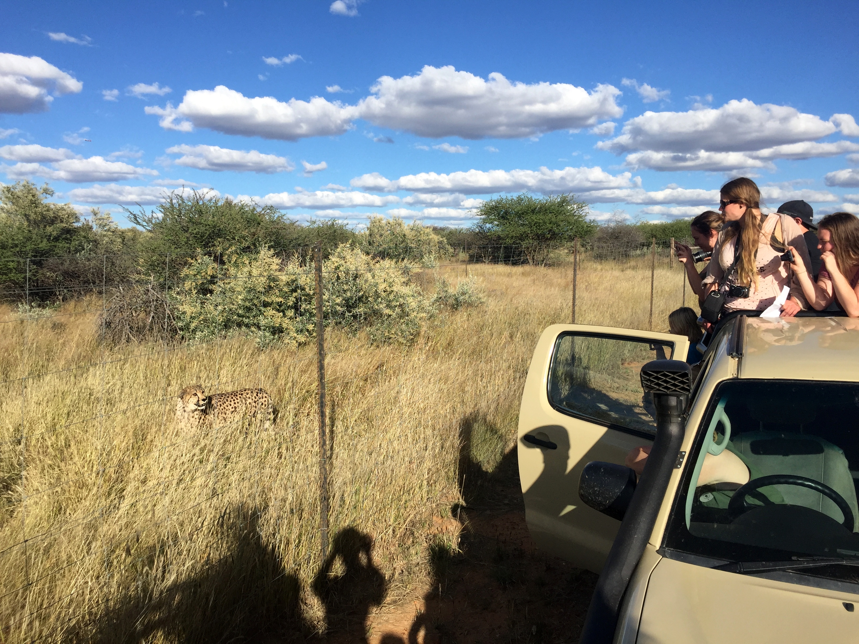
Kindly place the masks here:
[(197, 427), (201, 422), (223, 427), (241, 422), (245, 416), (264, 417), (263, 428), (271, 428), (275, 409), (265, 389), (240, 389), (207, 396), (202, 385), (191, 385), (179, 393), (176, 402), (176, 422), (180, 427)]

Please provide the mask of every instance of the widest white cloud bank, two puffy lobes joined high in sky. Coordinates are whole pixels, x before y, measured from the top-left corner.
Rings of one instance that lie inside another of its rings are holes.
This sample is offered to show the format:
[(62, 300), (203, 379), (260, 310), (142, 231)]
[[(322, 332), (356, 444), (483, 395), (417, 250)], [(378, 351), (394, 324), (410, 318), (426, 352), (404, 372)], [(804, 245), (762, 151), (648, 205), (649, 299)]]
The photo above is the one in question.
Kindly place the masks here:
[[(330, 86), (333, 91), (338, 86)], [(593, 127), (623, 110), (611, 85), (588, 92), (565, 83), (510, 82), (498, 73), (488, 80), (453, 67), (425, 66), (416, 76), (382, 76), (372, 95), (357, 105), (320, 96), (310, 100), (250, 98), (223, 85), (190, 90), (179, 106), (147, 106), (165, 130), (209, 128), (226, 134), (296, 141), (343, 134), (356, 118), (421, 137), (539, 137), (556, 130)], [(341, 88), (342, 91), (342, 88)], [(390, 137), (375, 140), (390, 141)]]

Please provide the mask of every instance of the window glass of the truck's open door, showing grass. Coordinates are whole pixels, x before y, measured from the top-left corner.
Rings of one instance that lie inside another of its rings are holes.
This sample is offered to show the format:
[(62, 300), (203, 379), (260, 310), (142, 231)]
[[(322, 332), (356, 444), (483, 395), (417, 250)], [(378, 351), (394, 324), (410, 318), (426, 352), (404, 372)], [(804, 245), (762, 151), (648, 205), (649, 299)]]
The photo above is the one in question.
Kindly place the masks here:
[(673, 343), (565, 334), (557, 338), (549, 401), (557, 410), (600, 424), (654, 434), (655, 410), (644, 394), (641, 368), (673, 357)]

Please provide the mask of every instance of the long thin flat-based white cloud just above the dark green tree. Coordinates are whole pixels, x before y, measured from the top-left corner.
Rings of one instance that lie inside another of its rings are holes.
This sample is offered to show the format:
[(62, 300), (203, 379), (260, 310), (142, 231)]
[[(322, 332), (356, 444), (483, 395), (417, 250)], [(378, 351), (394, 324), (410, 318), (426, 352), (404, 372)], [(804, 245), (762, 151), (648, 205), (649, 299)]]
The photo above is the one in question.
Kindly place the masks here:
[(460, 192), (466, 195), (528, 190), (542, 193), (585, 192), (637, 185), (630, 173), (613, 175), (600, 167), (565, 167), (563, 170), (468, 170), (450, 174), (409, 174), (391, 180), (380, 173), (364, 174), (350, 185), (369, 191)]

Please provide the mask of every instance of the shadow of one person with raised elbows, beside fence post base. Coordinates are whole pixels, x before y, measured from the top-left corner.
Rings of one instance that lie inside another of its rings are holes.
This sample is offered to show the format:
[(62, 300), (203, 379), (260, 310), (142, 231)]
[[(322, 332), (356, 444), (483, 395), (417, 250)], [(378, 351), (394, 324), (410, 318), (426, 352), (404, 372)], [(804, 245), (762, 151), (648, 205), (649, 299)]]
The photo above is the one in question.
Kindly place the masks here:
[(355, 527), (338, 532), (314, 577), (313, 590), (325, 605), (329, 632), (366, 642), (370, 608), (381, 605), (387, 592), (385, 575), (373, 562), (373, 539)]

